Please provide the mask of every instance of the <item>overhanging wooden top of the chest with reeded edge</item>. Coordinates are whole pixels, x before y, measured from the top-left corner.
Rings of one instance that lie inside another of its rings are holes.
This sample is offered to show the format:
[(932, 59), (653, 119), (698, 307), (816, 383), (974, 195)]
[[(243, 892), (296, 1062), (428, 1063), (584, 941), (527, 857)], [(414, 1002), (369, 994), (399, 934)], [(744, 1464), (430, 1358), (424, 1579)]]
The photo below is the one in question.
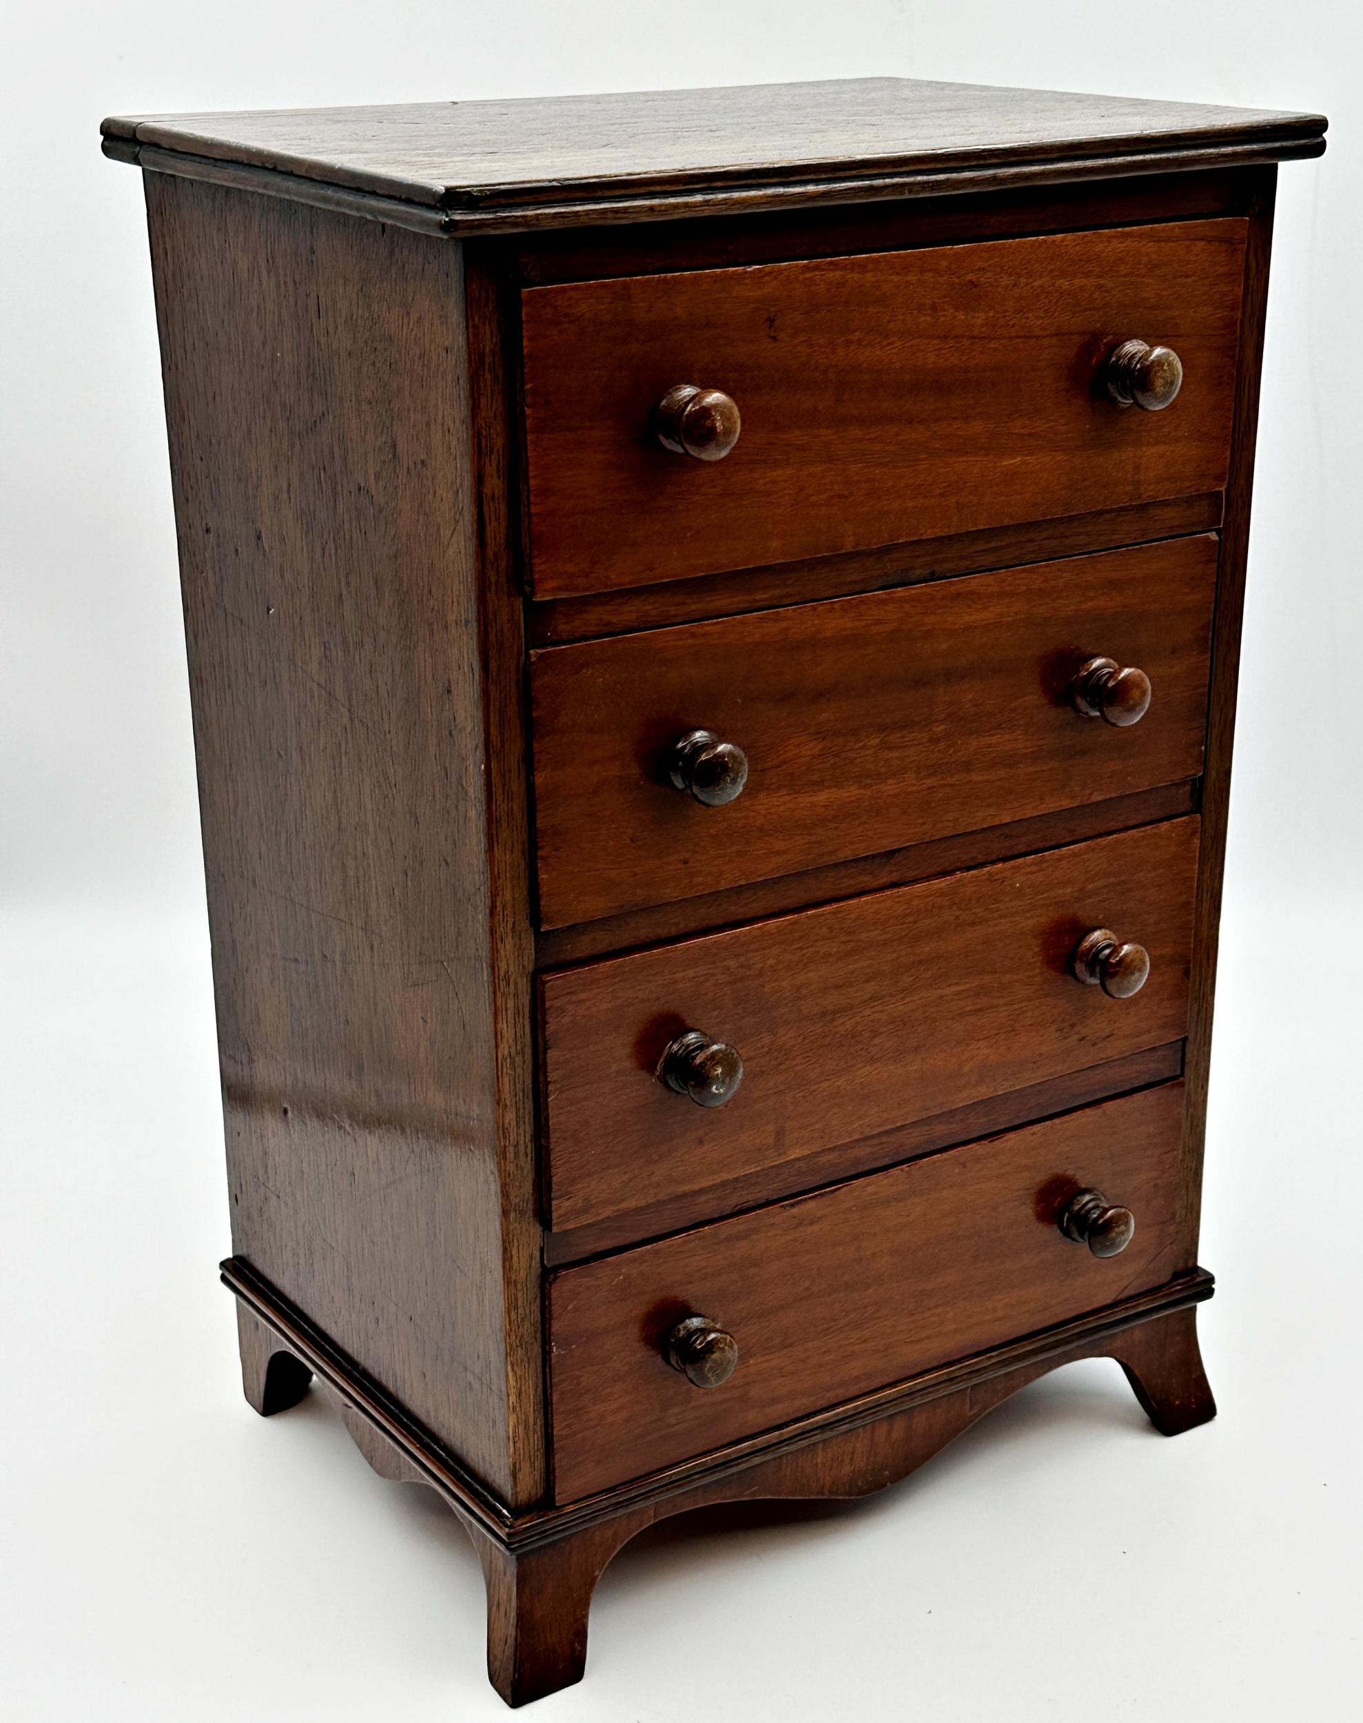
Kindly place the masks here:
[[(107, 119), (105, 150), (408, 226), (515, 231), (1320, 155), (1325, 119), (862, 78)], [(365, 207), (370, 205), (370, 207)]]

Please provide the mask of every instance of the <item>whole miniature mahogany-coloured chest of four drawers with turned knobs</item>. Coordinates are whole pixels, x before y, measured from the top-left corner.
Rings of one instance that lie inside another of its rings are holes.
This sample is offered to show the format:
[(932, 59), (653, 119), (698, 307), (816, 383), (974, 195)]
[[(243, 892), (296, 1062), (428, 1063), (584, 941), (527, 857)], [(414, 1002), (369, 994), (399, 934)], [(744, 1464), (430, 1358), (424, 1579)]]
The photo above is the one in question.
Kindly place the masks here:
[(1165, 1434), (1277, 162), (872, 79), (109, 121), (145, 171), (246, 1396), (519, 1704), (643, 1527), (1075, 1358)]

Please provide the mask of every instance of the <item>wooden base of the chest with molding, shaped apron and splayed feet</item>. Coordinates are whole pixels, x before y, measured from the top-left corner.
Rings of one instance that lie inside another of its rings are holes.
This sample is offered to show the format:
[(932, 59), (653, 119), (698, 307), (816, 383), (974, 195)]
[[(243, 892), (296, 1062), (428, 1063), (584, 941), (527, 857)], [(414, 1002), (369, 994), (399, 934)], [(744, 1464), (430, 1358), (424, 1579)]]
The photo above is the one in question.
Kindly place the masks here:
[(1196, 1327), (1196, 1306), (1211, 1296), (1213, 1280), (1194, 1270), (758, 1440), (582, 1502), (512, 1513), (248, 1263), (222, 1263), (222, 1280), (238, 1301), (252, 1406), (264, 1416), (283, 1411), (315, 1377), (381, 1477), (434, 1489), (458, 1516), (488, 1585), (488, 1675), (512, 1706), (581, 1680), (596, 1580), (658, 1520), (720, 1502), (867, 1496), (906, 1477), (1020, 1387), (1082, 1358), (1115, 1358), (1163, 1435), (1217, 1413)]

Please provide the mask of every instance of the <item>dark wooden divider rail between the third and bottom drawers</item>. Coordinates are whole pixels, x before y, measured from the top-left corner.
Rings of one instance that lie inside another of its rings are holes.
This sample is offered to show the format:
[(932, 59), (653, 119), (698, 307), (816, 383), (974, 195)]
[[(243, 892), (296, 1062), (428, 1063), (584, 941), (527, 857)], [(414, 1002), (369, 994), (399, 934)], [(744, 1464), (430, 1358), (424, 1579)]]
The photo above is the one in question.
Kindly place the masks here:
[(1182, 1041), (1163, 1048), (1148, 1048), (1122, 1060), (1108, 1060), (1082, 1072), (1067, 1072), (1027, 1089), (1010, 1089), (970, 1106), (953, 1108), (932, 1118), (917, 1118), (894, 1130), (882, 1130), (856, 1142), (837, 1142), (817, 1154), (803, 1154), (794, 1161), (777, 1161), (756, 1172), (727, 1179), (724, 1184), (705, 1185), (701, 1191), (682, 1191), (653, 1201), (643, 1208), (610, 1215), (588, 1227), (545, 1235), (545, 1266), (584, 1261), (607, 1251), (694, 1227), (706, 1220), (744, 1213), (777, 1197), (800, 1196), (818, 1185), (836, 1184), (858, 1173), (893, 1166), (915, 1154), (930, 1154), (975, 1137), (986, 1137), (1015, 1125), (1030, 1125), (1053, 1118), (1077, 1106), (1108, 1096), (1144, 1089), (1184, 1070)]

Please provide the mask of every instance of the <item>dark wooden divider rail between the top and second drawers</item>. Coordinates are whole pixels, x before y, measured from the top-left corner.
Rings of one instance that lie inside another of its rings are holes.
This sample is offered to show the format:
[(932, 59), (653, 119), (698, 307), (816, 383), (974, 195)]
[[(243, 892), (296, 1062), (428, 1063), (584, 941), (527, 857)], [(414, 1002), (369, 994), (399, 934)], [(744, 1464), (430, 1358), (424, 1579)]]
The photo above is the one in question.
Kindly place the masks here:
[(634, 634), (679, 622), (803, 605), (815, 598), (850, 598), (855, 593), (918, 586), (956, 574), (1120, 550), (1125, 544), (1211, 531), (1220, 524), (1222, 496), (1213, 491), (1061, 520), (958, 532), (925, 544), (891, 544), (874, 551), (850, 551), (846, 557), (781, 563), (775, 569), (698, 575), (625, 593), (555, 598), (531, 605), (529, 638), (534, 646), (560, 646), (576, 639)]

